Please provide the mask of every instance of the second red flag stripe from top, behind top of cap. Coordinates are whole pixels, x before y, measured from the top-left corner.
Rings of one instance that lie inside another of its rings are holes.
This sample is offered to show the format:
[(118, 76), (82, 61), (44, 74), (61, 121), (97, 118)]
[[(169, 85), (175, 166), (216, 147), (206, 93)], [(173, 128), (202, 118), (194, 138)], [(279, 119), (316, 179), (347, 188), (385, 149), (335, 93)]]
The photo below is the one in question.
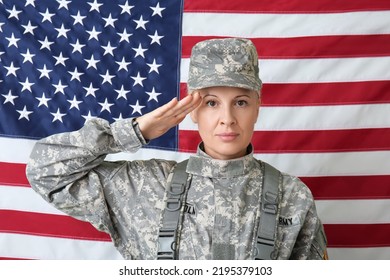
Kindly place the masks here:
[[(217, 36), (184, 36), (182, 56), (190, 57), (199, 41)], [(340, 35), (296, 38), (251, 38), (262, 58), (373, 57), (390, 54), (390, 35)]]

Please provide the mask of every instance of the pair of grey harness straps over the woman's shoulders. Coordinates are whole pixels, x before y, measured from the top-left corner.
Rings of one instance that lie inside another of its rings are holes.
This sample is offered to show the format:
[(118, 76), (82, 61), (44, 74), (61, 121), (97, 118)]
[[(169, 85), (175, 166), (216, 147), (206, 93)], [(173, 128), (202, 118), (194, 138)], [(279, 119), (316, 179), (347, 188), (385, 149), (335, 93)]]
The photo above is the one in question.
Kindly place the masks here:
[[(184, 204), (192, 180), (192, 176), (186, 172), (187, 162), (188, 160), (185, 160), (176, 165), (167, 187), (167, 203), (158, 236), (158, 260), (178, 259)], [(269, 260), (275, 258), (274, 245), (282, 176), (280, 171), (266, 162), (259, 160), (259, 163), (263, 169), (263, 191), (254, 259)]]

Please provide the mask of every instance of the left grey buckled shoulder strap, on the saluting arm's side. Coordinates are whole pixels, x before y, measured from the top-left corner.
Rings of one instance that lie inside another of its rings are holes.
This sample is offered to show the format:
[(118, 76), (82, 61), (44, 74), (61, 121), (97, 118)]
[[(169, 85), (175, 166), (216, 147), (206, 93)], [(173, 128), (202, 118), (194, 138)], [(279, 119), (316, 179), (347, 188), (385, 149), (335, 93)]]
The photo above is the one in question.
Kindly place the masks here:
[(171, 183), (167, 187), (167, 203), (163, 212), (162, 227), (158, 234), (158, 260), (177, 259), (178, 228), (187, 188), (187, 161), (176, 165)]

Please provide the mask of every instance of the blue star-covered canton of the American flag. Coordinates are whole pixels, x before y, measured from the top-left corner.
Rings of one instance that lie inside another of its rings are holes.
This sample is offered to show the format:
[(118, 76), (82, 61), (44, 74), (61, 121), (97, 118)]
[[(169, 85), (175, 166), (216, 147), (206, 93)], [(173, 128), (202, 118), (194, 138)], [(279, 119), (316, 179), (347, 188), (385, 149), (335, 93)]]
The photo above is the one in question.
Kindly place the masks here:
[[(0, 134), (38, 139), (178, 97), (182, 0), (160, 2), (0, 0)], [(150, 146), (176, 149), (176, 133)]]

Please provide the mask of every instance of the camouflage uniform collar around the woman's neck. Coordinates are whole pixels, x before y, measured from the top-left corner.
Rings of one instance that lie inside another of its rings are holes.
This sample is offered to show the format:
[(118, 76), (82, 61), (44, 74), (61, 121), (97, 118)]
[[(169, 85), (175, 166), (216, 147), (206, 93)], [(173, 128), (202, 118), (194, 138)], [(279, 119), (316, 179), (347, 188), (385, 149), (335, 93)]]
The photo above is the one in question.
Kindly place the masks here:
[(232, 178), (247, 174), (255, 167), (253, 147), (248, 146), (246, 156), (232, 160), (217, 160), (211, 158), (203, 149), (203, 144), (198, 146), (196, 155), (191, 156), (187, 164), (187, 172), (193, 175), (210, 178)]

